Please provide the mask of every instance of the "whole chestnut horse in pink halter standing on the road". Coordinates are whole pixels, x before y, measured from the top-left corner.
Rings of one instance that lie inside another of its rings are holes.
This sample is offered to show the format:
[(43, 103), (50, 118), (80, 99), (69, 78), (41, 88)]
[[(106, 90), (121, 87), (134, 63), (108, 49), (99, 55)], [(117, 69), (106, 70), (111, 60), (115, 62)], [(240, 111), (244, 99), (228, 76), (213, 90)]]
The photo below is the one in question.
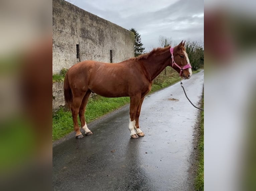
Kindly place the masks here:
[(192, 76), (184, 44), (181, 41), (174, 48), (153, 49), (150, 53), (120, 63), (83, 61), (73, 65), (65, 76), (64, 95), (72, 112), (76, 137), (83, 137), (78, 126), (78, 114), (85, 134), (93, 134), (85, 122), (85, 108), (92, 92), (104, 97), (129, 96), (130, 136), (144, 136), (139, 128), (140, 109), (144, 96), (151, 90), (152, 81), (167, 66), (176, 70), (183, 79)]

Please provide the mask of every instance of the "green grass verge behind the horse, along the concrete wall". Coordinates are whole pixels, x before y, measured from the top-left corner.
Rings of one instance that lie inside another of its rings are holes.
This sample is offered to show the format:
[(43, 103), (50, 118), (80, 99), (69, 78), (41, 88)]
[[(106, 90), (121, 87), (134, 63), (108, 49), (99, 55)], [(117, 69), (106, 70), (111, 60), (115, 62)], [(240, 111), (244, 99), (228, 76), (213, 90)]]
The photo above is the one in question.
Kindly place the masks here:
[[(152, 88), (149, 94), (168, 87), (175, 82), (179, 81), (179, 75), (172, 68), (166, 68), (166, 75), (164, 71), (153, 81)], [(85, 118), (86, 123), (90, 123), (93, 120), (103, 116), (106, 113), (114, 111), (119, 107), (129, 103), (129, 97), (117, 97), (107, 98), (96, 95), (91, 97), (86, 106)], [(79, 121), (79, 118), (78, 118)], [(80, 123), (80, 122), (79, 122)], [(79, 124), (80, 125), (80, 124)], [(74, 131), (73, 120), (70, 111), (60, 108), (58, 111), (53, 113), (52, 118), (52, 140), (58, 140), (59, 138)]]

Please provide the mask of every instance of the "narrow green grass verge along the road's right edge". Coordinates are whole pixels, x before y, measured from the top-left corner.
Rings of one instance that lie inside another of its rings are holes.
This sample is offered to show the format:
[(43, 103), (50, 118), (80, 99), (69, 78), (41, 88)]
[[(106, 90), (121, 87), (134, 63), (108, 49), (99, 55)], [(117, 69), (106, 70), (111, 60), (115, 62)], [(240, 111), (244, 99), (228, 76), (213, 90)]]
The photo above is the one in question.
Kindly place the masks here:
[[(202, 108), (204, 108), (204, 97), (202, 99)], [(198, 191), (204, 190), (204, 111), (201, 111), (200, 117), (200, 139), (198, 143), (198, 170), (195, 179), (195, 188)]]

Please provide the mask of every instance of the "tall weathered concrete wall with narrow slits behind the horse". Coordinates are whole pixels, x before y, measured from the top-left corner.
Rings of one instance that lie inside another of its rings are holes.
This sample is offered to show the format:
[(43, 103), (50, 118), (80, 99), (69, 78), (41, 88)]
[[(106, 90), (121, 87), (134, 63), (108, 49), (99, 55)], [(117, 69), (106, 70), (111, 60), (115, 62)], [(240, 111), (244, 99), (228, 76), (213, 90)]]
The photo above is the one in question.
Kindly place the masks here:
[(52, 72), (80, 61), (117, 63), (134, 57), (134, 34), (63, 0), (53, 0)]

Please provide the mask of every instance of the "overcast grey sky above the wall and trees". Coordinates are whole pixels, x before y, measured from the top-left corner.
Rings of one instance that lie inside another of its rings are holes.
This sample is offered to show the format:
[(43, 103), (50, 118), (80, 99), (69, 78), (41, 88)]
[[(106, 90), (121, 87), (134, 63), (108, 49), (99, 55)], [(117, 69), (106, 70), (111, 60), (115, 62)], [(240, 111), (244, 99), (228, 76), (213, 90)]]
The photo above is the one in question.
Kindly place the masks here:
[(179, 43), (204, 41), (203, 0), (69, 0), (70, 3), (141, 35), (145, 52), (160, 35)]

